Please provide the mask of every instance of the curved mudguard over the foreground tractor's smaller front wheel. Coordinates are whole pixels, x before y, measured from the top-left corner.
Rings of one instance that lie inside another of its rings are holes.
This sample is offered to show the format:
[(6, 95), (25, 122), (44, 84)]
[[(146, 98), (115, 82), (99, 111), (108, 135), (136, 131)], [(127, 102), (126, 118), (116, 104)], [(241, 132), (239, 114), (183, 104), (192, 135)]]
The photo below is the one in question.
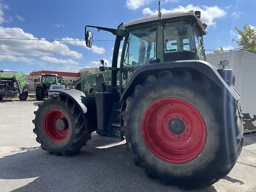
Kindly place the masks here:
[(49, 92), (56, 92), (59, 94), (67, 95), (79, 106), (81, 112), (84, 114), (84, 121), (89, 122), (89, 131), (93, 132), (97, 129), (97, 114), (95, 99), (86, 97), (84, 92), (76, 89), (53, 89)]

